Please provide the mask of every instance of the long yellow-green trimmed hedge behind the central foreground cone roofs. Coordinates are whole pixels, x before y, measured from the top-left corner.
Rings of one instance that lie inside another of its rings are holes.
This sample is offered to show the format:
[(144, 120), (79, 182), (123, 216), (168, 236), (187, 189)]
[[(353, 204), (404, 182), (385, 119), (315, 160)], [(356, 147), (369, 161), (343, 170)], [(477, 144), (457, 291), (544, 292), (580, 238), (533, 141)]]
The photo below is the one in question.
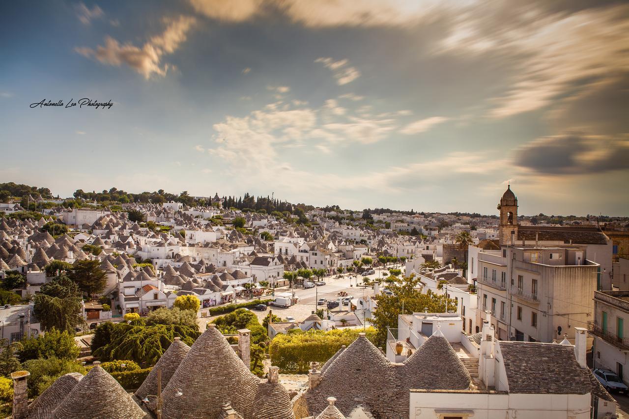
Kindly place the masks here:
[[(286, 335), (279, 333), (269, 346), (271, 364), (278, 366), (284, 374), (306, 374), (310, 362), (319, 362), (323, 366), (342, 345), (352, 344), (360, 332), (363, 330), (337, 329), (330, 332), (291, 330)], [(365, 332), (367, 338), (374, 342), (376, 329), (368, 327)]]

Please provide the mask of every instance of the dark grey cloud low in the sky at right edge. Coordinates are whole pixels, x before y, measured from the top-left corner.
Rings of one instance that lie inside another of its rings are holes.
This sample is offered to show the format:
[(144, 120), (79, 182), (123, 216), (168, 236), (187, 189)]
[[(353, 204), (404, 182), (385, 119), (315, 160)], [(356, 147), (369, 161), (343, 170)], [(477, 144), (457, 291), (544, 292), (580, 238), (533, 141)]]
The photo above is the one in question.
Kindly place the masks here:
[(593, 174), (629, 169), (629, 136), (567, 133), (539, 138), (515, 152), (515, 164), (539, 174)]

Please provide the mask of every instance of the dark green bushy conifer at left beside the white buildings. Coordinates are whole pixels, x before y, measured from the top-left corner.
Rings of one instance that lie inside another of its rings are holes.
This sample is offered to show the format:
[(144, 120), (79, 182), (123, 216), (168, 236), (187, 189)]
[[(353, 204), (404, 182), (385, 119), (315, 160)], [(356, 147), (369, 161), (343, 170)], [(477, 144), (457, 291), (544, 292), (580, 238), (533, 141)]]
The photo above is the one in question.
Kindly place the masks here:
[(77, 285), (60, 276), (42, 285), (40, 293), (33, 297), (33, 310), (45, 330), (56, 328), (74, 332), (77, 325), (85, 324), (81, 303)]

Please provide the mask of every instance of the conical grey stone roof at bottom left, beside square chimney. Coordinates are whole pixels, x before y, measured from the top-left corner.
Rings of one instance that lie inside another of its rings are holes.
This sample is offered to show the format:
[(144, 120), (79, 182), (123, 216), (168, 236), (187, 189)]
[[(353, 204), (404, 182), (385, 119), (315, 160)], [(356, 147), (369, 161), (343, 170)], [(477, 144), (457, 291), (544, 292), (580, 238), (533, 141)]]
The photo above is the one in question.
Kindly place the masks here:
[(72, 388), (52, 413), (53, 419), (140, 419), (146, 413), (100, 364)]

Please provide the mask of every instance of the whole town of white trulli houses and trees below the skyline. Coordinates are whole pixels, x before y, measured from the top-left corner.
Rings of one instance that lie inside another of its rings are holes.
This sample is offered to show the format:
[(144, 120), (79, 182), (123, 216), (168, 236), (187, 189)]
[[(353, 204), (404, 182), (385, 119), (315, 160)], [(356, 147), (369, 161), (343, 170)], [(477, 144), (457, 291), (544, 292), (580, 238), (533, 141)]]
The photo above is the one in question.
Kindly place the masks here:
[(525, 217), (510, 185), (487, 216), (0, 189), (5, 415), (608, 418), (627, 403), (626, 218)]

